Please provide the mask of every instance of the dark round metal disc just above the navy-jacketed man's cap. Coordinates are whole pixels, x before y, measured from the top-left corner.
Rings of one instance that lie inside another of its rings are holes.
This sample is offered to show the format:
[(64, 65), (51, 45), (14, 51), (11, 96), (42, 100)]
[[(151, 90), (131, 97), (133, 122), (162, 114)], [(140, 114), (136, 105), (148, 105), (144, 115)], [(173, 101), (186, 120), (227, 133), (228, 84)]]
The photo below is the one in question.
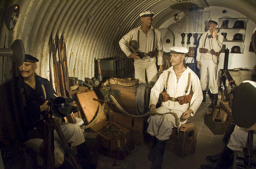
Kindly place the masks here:
[(20, 39), (14, 40), (12, 43), (12, 59), (17, 65), (22, 65), (25, 60), (25, 48)]

